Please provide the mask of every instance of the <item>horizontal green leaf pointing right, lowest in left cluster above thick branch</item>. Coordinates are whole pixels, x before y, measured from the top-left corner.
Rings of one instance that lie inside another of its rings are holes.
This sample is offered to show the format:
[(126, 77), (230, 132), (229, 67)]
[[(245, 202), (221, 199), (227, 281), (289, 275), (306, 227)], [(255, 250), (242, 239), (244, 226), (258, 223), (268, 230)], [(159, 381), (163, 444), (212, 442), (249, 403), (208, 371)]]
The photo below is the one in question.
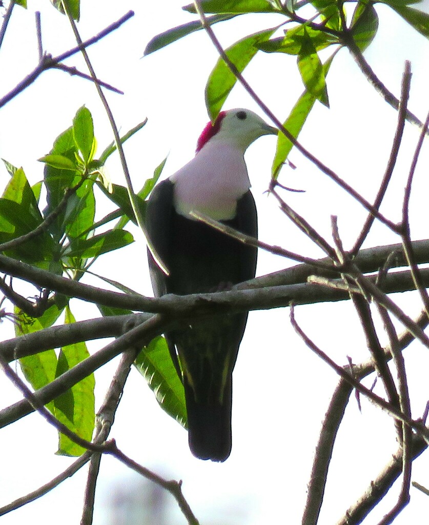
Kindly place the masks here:
[(72, 240), (67, 248), (67, 257), (81, 257), (89, 259), (105, 254), (108, 251), (123, 248), (134, 241), (133, 236), (120, 229), (109, 230), (100, 235), (95, 235), (89, 239)]

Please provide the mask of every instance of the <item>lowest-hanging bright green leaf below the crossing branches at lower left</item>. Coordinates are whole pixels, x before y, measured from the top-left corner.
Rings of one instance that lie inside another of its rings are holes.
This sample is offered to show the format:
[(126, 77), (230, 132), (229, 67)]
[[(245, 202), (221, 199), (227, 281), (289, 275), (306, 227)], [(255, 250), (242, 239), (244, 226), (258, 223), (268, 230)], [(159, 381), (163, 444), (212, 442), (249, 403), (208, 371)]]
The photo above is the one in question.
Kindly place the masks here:
[[(67, 307), (65, 324), (75, 322), (75, 317), (69, 307)], [(84, 342), (63, 346), (58, 357), (56, 377), (67, 372), (67, 370), (70, 370), (88, 357), (89, 352)], [(91, 373), (54, 400), (55, 417), (78, 436), (88, 441), (92, 438), (95, 423), (94, 387), (94, 374)], [(64, 434), (59, 433), (57, 454), (80, 456), (85, 450), (85, 448), (77, 445)]]

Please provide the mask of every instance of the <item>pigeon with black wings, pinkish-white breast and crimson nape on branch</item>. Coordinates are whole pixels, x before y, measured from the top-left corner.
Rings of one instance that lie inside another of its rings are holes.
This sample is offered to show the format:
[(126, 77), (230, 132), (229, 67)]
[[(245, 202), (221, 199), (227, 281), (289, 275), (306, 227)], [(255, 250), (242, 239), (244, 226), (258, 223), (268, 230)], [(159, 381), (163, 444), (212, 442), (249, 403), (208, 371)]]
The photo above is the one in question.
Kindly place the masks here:
[[(155, 185), (145, 210), (155, 297), (228, 290), (255, 277), (255, 246), (240, 243), (190, 213), (257, 238), (244, 153), (259, 137), (277, 133), (253, 111), (222, 111), (201, 133), (194, 158)], [(232, 373), (247, 315), (191, 319), (164, 334), (184, 386), (189, 446), (197, 458), (221, 462), (231, 454)]]

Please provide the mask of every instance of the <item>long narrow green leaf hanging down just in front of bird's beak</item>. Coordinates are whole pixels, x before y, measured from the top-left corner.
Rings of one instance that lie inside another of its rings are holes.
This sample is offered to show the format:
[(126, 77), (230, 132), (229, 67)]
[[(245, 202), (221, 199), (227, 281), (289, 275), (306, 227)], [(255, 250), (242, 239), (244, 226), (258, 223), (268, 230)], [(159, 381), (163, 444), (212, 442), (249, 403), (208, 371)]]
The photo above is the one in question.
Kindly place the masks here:
[[(336, 55), (334, 53), (326, 62), (323, 64), (323, 73), (325, 76), (328, 74), (329, 68), (332, 64), (333, 57)], [(304, 125), (311, 108), (313, 107), (316, 101), (316, 97), (308, 91), (304, 91), (294, 108), (289, 114), (289, 117), (284, 122), (284, 127), (289, 131), (289, 133), (295, 139), (298, 137), (302, 126)], [(273, 167), (271, 168), (271, 175), (274, 179), (277, 179), (278, 174), (282, 165), (285, 163), (287, 156), (290, 153), (290, 150), (293, 148), (293, 144), (289, 139), (285, 137), (281, 131), (278, 134), (277, 139), (277, 150), (276, 155), (273, 161)]]

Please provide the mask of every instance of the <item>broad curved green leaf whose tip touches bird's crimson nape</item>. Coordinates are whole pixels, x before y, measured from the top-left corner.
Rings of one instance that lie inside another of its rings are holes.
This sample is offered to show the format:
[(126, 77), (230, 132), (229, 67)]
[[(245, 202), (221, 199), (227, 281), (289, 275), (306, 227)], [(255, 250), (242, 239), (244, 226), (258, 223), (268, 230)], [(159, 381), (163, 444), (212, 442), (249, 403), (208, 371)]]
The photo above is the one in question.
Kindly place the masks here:
[[(227, 57), (239, 72), (242, 72), (255, 56), (258, 51), (257, 45), (268, 40), (276, 29), (277, 27), (247, 36), (226, 49)], [(208, 77), (205, 89), (206, 106), (212, 121), (216, 119), (236, 81), (235, 75), (229, 70), (224, 60), (219, 58), (210, 77)]]

